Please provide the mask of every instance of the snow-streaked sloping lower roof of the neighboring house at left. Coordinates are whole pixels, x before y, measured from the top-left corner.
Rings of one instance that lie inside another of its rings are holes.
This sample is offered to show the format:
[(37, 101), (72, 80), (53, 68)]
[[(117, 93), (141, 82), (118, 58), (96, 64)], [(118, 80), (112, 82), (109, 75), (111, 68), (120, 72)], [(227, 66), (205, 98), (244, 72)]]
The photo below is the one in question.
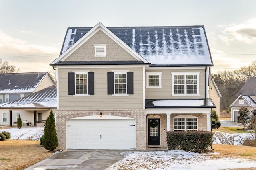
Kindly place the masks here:
[(50, 86), (28, 96), (0, 106), (0, 108), (52, 108), (57, 107), (56, 87)]

